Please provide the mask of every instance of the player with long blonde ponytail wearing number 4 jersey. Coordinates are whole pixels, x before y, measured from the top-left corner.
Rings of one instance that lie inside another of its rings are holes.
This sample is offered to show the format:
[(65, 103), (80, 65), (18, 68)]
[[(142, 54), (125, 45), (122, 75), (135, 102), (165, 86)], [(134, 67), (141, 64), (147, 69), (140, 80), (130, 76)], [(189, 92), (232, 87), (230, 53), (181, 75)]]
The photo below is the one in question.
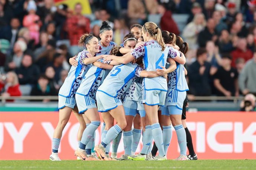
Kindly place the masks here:
[[(158, 68), (164, 68), (167, 57), (177, 58), (178, 51), (173, 48), (167, 48), (164, 44), (161, 30), (155, 23), (147, 22), (142, 27), (142, 36), (145, 42), (142, 47), (135, 48), (134, 51), (123, 57), (108, 56), (104, 59), (114, 60), (119, 63), (127, 64), (134, 58), (143, 57), (144, 67), (147, 71), (156, 71)], [(159, 149), (159, 155), (155, 160), (166, 160), (167, 157), (163, 147), (163, 135), (158, 122), (158, 106), (163, 106), (167, 93), (167, 81), (164, 77), (144, 78), (143, 103), (145, 111), (149, 118), (152, 129), (152, 135)], [(143, 155), (144, 156), (144, 155)], [(132, 158), (131, 158), (132, 159)]]

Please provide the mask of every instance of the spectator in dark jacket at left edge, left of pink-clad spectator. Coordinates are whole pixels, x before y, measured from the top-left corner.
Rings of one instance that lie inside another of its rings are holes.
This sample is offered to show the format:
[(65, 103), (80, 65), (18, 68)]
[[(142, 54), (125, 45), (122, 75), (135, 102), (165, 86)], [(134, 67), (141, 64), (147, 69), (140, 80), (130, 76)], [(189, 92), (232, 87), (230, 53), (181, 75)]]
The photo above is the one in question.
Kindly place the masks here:
[(8, 40), (10, 42), (10, 48), (13, 48), (13, 45), (18, 37), (19, 29), (20, 29), (19, 19), (12, 18), (10, 25), (2, 27), (0, 31), (0, 38)]

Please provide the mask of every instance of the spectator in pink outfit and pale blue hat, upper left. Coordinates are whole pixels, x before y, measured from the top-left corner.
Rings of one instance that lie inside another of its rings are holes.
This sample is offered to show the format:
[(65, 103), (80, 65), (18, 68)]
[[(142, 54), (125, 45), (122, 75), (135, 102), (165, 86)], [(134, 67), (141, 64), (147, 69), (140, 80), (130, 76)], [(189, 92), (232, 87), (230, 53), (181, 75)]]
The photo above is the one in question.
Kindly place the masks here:
[(31, 39), (35, 40), (35, 44), (39, 43), (39, 30), (42, 25), (40, 17), (36, 15), (36, 3), (33, 0), (29, 0), (27, 4), (28, 15), (23, 19), (23, 26), (29, 29)]

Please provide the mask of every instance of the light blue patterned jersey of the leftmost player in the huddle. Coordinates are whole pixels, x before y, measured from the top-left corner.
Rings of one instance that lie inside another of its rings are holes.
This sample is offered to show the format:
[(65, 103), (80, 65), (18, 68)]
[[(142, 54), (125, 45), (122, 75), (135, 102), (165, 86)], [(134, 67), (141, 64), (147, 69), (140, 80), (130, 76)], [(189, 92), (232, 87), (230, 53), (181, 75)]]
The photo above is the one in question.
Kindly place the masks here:
[(89, 67), (91, 66), (85, 65), (82, 62), (83, 59), (87, 57), (87, 53), (87, 50), (79, 52), (78, 56), (76, 57), (76, 61), (78, 61), (78, 66), (72, 66), (70, 68), (68, 76), (59, 90), (59, 96), (63, 96), (66, 98), (75, 98), (75, 93), (82, 82), (83, 76), (86, 74)]

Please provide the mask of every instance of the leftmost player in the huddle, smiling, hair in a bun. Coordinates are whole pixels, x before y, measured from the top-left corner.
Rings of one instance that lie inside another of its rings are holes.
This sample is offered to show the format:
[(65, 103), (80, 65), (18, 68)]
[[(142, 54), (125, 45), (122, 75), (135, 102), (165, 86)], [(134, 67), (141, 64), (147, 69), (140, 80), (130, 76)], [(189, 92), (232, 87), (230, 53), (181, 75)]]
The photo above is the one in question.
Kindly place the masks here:
[[(95, 42), (96, 40), (96, 42)], [(81, 84), (83, 76), (89, 69), (89, 64), (97, 61), (101, 56), (88, 58), (88, 54), (95, 55), (99, 51), (99, 44), (96, 37), (93, 35), (84, 34), (80, 37), (79, 44), (86, 44), (91, 47), (91, 49), (83, 50), (79, 52), (76, 58), (78, 65), (72, 66), (69, 70), (68, 76), (65, 79), (63, 85), (59, 90), (59, 122), (53, 133), (52, 140), (52, 154), (50, 155), (50, 160), (60, 160), (58, 157), (58, 148), (60, 144), (60, 138), (62, 136), (63, 129), (65, 128), (70, 114), (73, 112), (76, 118), (79, 120), (80, 127), (78, 133), (78, 139), (81, 140), (83, 130), (85, 129), (85, 121), (81, 115), (78, 115), (78, 109), (75, 106), (75, 93)], [(87, 58), (87, 60), (85, 59)], [(86, 60), (86, 62), (85, 62)]]

